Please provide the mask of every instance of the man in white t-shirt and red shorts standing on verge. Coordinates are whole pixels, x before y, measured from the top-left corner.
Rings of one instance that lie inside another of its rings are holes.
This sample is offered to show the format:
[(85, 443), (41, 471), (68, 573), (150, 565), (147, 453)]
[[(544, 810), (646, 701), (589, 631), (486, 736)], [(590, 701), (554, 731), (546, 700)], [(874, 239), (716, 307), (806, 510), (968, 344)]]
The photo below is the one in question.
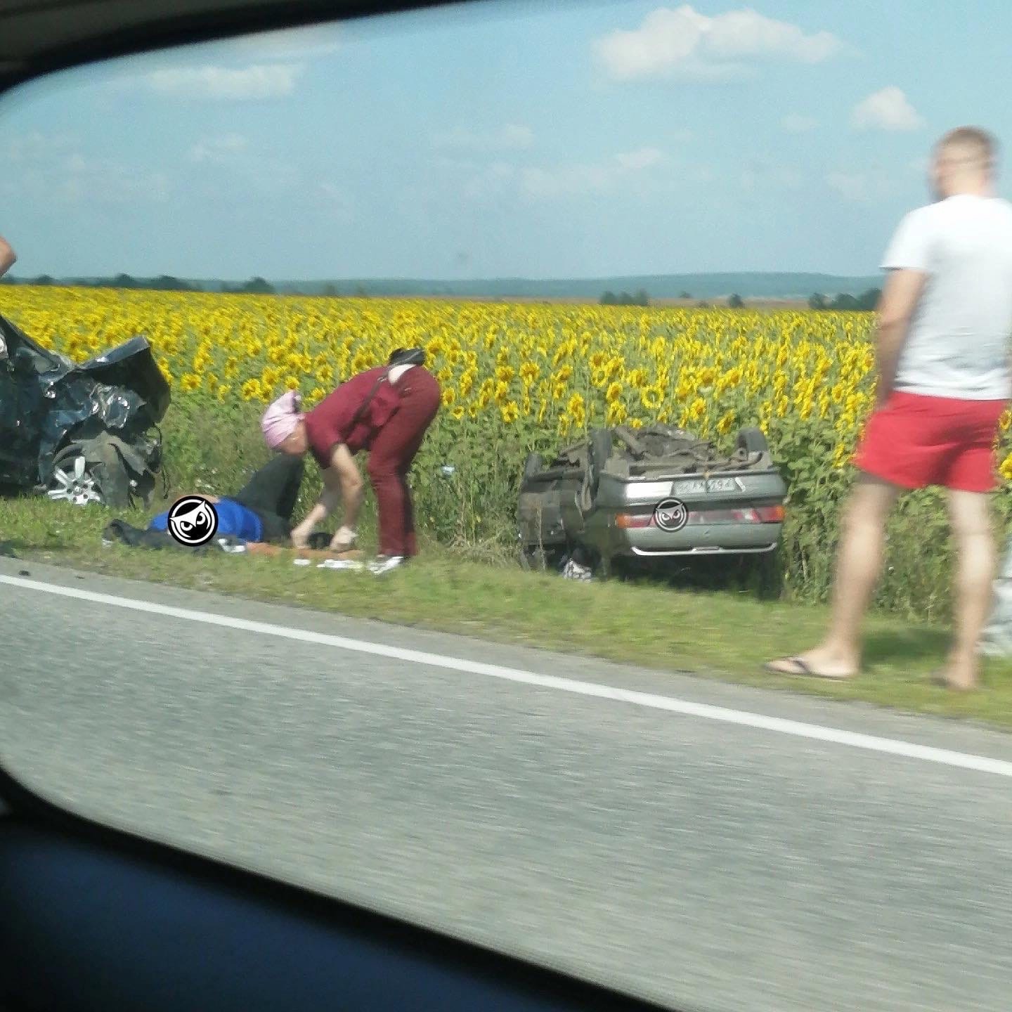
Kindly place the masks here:
[(860, 475), (842, 527), (831, 627), (819, 647), (767, 671), (857, 674), (889, 514), (903, 492), (941, 486), (958, 569), (956, 635), (936, 680), (977, 684), (997, 565), (994, 442), (1012, 398), (1012, 203), (995, 196), (996, 152), (977, 128), (946, 134), (932, 160), (935, 202), (907, 215), (890, 243), (875, 407), (854, 458)]

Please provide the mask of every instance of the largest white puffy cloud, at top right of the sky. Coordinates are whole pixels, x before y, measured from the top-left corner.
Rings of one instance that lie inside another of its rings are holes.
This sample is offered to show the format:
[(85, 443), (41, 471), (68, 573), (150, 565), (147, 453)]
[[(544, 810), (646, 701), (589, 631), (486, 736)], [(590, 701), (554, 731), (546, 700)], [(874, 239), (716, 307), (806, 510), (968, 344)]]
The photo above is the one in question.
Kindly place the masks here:
[(660, 7), (631, 31), (614, 31), (594, 43), (605, 72), (615, 81), (682, 77), (728, 80), (748, 75), (756, 60), (815, 64), (841, 49), (828, 31), (806, 34), (786, 21), (754, 10), (709, 17), (689, 4)]

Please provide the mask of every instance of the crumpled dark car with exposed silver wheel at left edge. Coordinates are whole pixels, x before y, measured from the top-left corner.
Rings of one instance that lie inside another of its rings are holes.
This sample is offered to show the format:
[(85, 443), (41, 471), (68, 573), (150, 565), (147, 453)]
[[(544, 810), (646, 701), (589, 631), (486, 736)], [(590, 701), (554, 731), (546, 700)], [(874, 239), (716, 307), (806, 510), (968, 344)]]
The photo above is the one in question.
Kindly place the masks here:
[(0, 490), (150, 505), (170, 398), (143, 337), (75, 363), (0, 316)]

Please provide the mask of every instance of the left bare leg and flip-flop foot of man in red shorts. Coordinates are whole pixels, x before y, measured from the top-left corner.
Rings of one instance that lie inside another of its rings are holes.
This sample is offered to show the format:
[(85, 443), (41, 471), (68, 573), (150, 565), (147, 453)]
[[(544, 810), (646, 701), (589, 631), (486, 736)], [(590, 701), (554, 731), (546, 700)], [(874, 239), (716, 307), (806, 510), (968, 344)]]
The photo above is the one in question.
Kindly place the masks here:
[(861, 621), (881, 573), (886, 521), (901, 491), (870, 475), (859, 477), (843, 517), (829, 631), (818, 647), (796, 659), (775, 661), (767, 670), (826, 678), (857, 674)]

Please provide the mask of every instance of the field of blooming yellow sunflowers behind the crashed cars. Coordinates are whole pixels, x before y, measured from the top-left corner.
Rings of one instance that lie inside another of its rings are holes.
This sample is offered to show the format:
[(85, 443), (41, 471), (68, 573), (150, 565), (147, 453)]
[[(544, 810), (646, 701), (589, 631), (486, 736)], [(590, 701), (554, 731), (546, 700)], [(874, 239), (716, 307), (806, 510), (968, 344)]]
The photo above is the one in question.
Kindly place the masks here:
[[(847, 465), (874, 397), (866, 313), (29, 286), (0, 286), (0, 313), (74, 359), (146, 336), (172, 387), (164, 427), (177, 488), (223, 490), (259, 466), (257, 417), (284, 390), (312, 407), (393, 348), (424, 347), (443, 407), (413, 485), (420, 523), (447, 543), (512, 544), (524, 456), (588, 427), (660, 420), (731, 448), (740, 427), (759, 425), (790, 487), (784, 587), (811, 599), (829, 586)], [(925, 567), (923, 538), (937, 535), (945, 557), (944, 511), (932, 493), (910, 500), (899, 519), (910, 559), (893, 558), (906, 556), (901, 530), (890, 562), (918, 575), (892, 590), (888, 576), (882, 603), (930, 610), (947, 590), (942, 569)]]

